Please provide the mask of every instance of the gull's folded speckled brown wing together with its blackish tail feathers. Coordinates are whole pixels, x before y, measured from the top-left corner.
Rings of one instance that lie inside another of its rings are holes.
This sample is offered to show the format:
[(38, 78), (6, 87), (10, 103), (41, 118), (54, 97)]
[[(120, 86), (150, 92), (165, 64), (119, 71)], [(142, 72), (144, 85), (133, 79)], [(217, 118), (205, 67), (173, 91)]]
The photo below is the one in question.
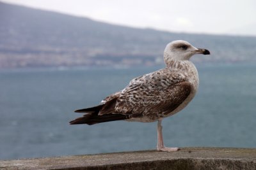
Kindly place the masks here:
[(191, 84), (184, 74), (161, 69), (134, 78), (124, 90), (106, 97), (99, 106), (77, 110), (86, 115), (70, 124), (92, 125), (134, 118), (147, 118), (142, 122), (152, 122), (175, 110), (190, 92)]

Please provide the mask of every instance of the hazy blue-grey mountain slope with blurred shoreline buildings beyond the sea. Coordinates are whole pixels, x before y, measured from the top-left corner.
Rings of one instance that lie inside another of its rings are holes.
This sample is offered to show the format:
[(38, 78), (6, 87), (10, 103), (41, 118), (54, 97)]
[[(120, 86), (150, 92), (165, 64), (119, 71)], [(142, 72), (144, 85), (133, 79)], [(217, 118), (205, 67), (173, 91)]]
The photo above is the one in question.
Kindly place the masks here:
[(256, 38), (136, 29), (0, 2), (0, 68), (163, 64), (184, 39), (211, 51), (195, 62), (256, 60)]

